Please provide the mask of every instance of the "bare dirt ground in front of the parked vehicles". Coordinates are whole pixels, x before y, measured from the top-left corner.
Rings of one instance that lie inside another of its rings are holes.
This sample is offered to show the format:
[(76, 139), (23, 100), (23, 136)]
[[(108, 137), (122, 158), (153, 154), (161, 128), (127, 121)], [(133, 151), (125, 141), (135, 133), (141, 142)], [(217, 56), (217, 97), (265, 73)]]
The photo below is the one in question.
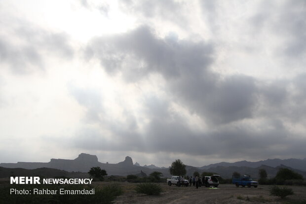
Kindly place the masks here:
[[(133, 189), (137, 184), (121, 182), (124, 194), (115, 199), (115, 204), (306, 204), (306, 187), (288, 186), (295, 195), (281, 200), (269, 196), (271, 186), (258, 188), (235, 187), (233, 184), (220, 184), (218, 189), (206, 187), (177, 187), (160, 184), (163, 193), (159, 196), (146, 196), (136, 193)], [(304, 202), (301, 202), (303, 201)]]

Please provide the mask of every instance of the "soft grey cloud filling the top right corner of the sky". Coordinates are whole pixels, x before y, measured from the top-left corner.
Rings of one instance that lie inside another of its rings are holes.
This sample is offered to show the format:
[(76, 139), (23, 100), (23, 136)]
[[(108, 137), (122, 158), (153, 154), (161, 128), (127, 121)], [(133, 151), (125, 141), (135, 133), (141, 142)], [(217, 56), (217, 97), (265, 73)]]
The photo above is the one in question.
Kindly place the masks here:
[(262, 35), (267, 33), (282, 38), (276, 54), (288, 58), (301, 58), (305, 55), (306, 45), (306, 2), (304, 0), (262, 1), (257, 5), (255, 14), (250, 18), (254, 29)]

